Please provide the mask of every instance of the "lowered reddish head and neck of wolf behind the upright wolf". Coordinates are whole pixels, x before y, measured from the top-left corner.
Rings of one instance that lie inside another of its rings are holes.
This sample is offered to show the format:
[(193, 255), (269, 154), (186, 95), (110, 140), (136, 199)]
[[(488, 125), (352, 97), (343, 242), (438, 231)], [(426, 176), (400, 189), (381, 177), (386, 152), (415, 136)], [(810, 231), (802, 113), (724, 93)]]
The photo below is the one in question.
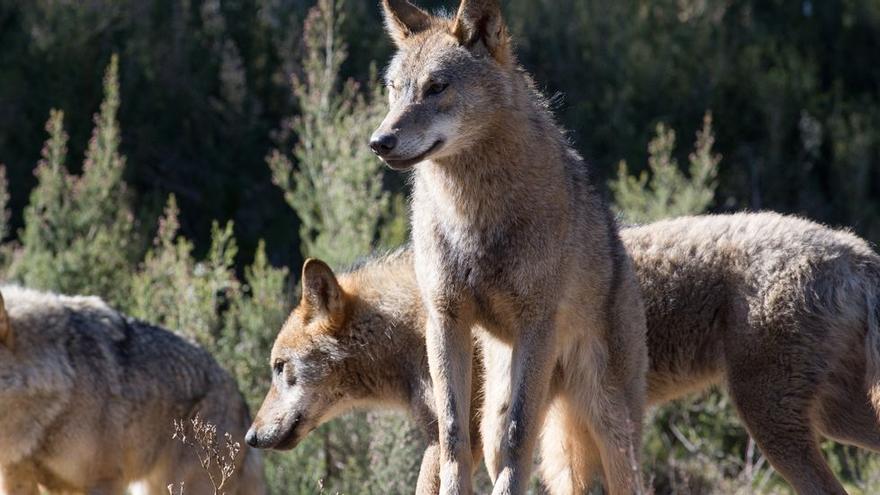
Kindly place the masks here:
[[(353, 408), (402, 409), (427, 445), (416, 493), (438, 493), (437, 412), (412, 253), (401, 250), (338, 280), (324, 262), (307, 260), (301, 285), (300, 303), (272, 348), (271, 387), (247, 443), (290, 450)], [(480, 362), (474, 366), (479, 370)], [(469, 416), (476, 415), (474, 403)], [(472, 454), (480, 459), (476, 423), (470, 434), (476, 439)]]

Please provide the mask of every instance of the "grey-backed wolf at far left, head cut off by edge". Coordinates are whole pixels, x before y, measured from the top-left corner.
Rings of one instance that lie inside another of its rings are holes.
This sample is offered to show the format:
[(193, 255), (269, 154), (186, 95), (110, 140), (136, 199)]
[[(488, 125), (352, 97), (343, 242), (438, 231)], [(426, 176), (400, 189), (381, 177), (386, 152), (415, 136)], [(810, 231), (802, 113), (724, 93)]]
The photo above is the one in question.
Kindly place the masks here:
[[(198, 413), (242, 439), (250, 418), (207, 352), (95, 297), (0, 294), (0, 494), (213, 493), (172, 421)], [(263, 492), (259, 453), (244, 447), (226, 493)]]

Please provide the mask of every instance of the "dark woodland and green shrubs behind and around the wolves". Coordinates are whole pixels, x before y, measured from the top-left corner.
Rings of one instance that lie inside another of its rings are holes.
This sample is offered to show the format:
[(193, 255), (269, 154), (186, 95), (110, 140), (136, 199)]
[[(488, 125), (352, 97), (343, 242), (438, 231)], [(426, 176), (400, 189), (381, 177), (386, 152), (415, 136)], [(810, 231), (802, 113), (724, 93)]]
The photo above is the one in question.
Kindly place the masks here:
[[(407, 237), (405, 176), (366, 146), (392, 50), (376, 3), (0, 0), (0, 278), (180, 331), (256, 408), (302, 259), (343, 268)], [(880, 240), (880, 1), (504, 5), (624, 221), (774, 209)], [(420, 442), (353, 414), (267, 475), (279, 494), (408, 493)], [(653, 412), (645, 444), (658, 494), (786, 490), (719, 392)], [(877, 492), (876, 459), (826, 454)]]

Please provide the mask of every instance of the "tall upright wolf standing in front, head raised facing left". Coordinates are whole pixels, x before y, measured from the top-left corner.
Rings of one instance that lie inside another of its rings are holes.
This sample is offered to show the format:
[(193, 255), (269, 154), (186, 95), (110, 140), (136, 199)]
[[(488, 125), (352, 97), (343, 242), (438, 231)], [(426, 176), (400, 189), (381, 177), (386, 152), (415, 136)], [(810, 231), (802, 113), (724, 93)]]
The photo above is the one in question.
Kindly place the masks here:
[(464, 0), (451, 18), (382, 4), (398, 51), (370, 146), (414, 170), (441, 493), (470, 492), (472, 335), (492, 383), (481, 431), (493, 493), (524, 492), (548, 414), (568, 425), (555, 455), (596, 445), (609, 492), (640, 491), (645, 314), (590, 169), (518, 66), (498, 0)]

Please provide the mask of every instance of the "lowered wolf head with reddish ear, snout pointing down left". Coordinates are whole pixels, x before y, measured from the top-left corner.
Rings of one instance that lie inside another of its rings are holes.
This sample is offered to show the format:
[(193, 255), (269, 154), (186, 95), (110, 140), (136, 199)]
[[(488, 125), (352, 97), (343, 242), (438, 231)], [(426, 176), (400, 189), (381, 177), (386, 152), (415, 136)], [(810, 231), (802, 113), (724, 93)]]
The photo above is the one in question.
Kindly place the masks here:
[(303, 266), (302, 300), (291, 313), (272, 349), (272, 384), (247, 443), (287, 450), (327, 419), (350, 405), (340, 343), (346, 330), (347, 295), (325, 263)]

